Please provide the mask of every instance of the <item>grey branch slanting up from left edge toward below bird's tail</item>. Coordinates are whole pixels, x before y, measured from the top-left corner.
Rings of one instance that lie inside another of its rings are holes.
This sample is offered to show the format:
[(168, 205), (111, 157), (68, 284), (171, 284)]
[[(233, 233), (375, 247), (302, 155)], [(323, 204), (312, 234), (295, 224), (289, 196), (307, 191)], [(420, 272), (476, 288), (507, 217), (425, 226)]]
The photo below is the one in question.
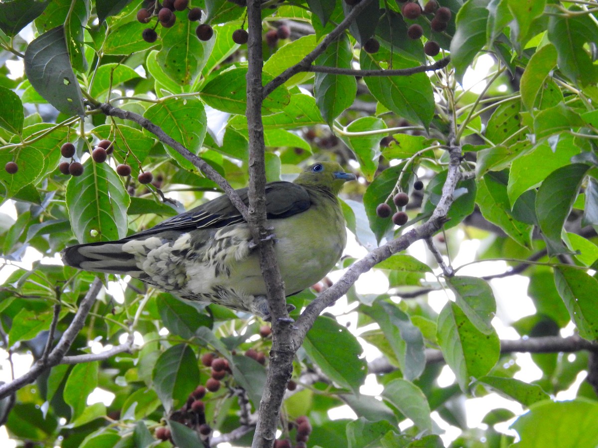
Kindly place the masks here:
[(91, 305), (93, 305), (93, 302), (96, 300), (97, 294), (100, 292), (101, 288), (102, 282), (100, 282), (99, 278), (94, 279), (89, 287), (89, 291), (87, 291), (86, 296), (83, 298), (83, 300), (81, 300), (79, 309), (77, 309), (77, 313), (75, 313), (75, 317), (73, 318), (71, 325), (69, 325), (68, 329), (66, 329), (66, 331), (63, 333), (56, 347), (54, 347), (54, 349), (48, 355), (47, 360), (44, 362), (44, 358), (39, 359), (33, 364), (31, 369), (29, 369), (29, 372), (25, 373), (25, 375), (20, 376), (10, 383), (1, 385), (0, 399), (7, 397), (23, 386), (32, 383), (44, 372), (44, 370), (56, 366), (56, 364), (59, 364), (60, 361), (62, 361), (65, 353), (69, 348), (71, 348), (75, 337), (77, 337), (83, 328), (87, 314), (89, 314), (91, 309)]

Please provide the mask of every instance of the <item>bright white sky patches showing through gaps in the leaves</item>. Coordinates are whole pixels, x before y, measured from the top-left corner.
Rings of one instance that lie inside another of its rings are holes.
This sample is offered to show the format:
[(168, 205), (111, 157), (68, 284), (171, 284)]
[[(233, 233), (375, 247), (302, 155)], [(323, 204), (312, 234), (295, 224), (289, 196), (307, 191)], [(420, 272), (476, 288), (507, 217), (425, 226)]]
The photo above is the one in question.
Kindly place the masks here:
[[(27, 33), (27, 31), (25, 31), (25, 33)], [(28, 41), (31, 40), (31, 36), (28, 34), (25, 34), (23, 37)], [(469, 69), (465, 74), (463, 79), (463, 87), (465, 89), (470, 89), (474, 93), (480, 93), (485, 87), (484, 82), (480, 82), (480, 79), (483, 79), (484, 76), (487, 75), (492, 64), (493, 60), (490, 56), (481, 56), (478, 59), (478, 63), (474, 69)], [(23, 75), (22, 63), (7, 61), (7, 67), (11, 70), (11, 73), (13, 73), (14, 78), (18, 78), (19, 76)], [(12, 201), (5, 202), (0, 207), (0, 213), (5, 213), (8, 216), (15, 217), (16, 212)], [(459, 253), (451, 254), (453, 257), (453, 266), (457, 267), (473, 261), (479, 245), (480, 241), (478, 240), (463, 240), (462, 243), (458, 245), (460, 247)], [(357, 257), (365, 255), (366, 252), (364, 248), (356, 243), (355, 238), (350, 233), (349, 244), (346, 251), (347, 253), (351, 254), (351, 256)], [(411, 246), (408, 250), (408, 253), (419, 258), (423, 262), (430, 261), (428, 249), (425, 247), (425, 244), (423, 244), (422, 241), (418, 241), (416, 244)], [(32, 262), (41, 258), (41, 254), (29, 248), (25, 253), (23, 262), (14, 264), (25, 269), (30, 269)], [(44, 258), (44, 262), (60, 263), (59, 257), (54, 257), (54, 259), (46, 257)], [(4, 282), (8, 275), (14, 271), (14, 269), (16, 269), (16, 267), (13, 268), (11, 266), (4, 266), (1, 268), (0, 282)], [(507, 263), (505, 262), (484, 262), (467, 266), (466, 268), (461, 269), (459, 274), (481, 277), (483, 275), (504, 272), (506, 269)], [(439, 272), (440, 269), (438, 269), (438, 272), (435, 273), (438, 274)], [(334, 281), (337, 280), (341, 274), (342, 272), (334, 272), (332, 275), (330, 275), (330, 277)], [(434, 281), (435, 278), (434, 276), (430, 276), (428, 280)], [(525, 294), (525, 291), (527, 290), (527, 278), (516, 275), (504, 279), (492, 280), (490, 281), (490, 285), (495, 293), (498, 304), (497, 316), (493, 320), (493, 325), (495, 326), (499, 337), (501, 339), (518, 339), (519, 336), (514, 329), (509, 327), (509, 324), (526, 315), (535, 314), (535, 308), (533, 306), (532, 300), (530, 300)], [(118, 289), (120, 289), (120, 287), (117, 284), (115, 284), (115, 289), (111, 289), (111, 293), (114, 293), (116, 297), (122, 296), (122, 293), (119, 293)], [(382, 274), (382, 272), (375, 270), (370, 271), (361, 276), (356, 283), (356, 289), (361, 293), (385, 293), (388, 290), (388, 280), (386, 279), (386, 276)], [(437, 291), (431, 293), (429, 295), (429, 304), (432, 306), (432, 308), (434, 308), (435, 311), (440, 312), (444, 304), (447, 302), (447, 300), (449, 300), (448, 294), (451, 294), (450, 291), (448, 293), (446, 291)], [(338, 315), (338, 320), (341, 324), (350, 323), (349, 329), (355, 332), (357, 314), (356, 312), (349, 312), (347, 314), (346, 297), (341, 297), (335, 306), (328, 308), (326, 311)], [(368, 329), (370, 328), (371, 327), (368, 327)], [(572, 333), (572, 328), (570, 327), (565, 330), (566, 331), (563, 332), (563, 336), (569, 336)], [(362, 331), (364, 331), (364, 329), (359, 329), (359, 332)], [(138, 337), (136, 337), (135, 342), (141, 343), (141, 335), (137, 336)], [(360, 341), (364, 345), (364, 354), (368, 361), (380, 356), (380, 352), (377, 350), (377, 348), (365, 343), (361, 339)], [(102, 349), (106, 348), (108, 347), (103, 347), (99, 342), (94, 342), (92, 345), (93, 352), (102, 351)], [(575, 355), (572, 354), (569, 356), (574, 357)], [(532, 382), (541, 378), (541, 370), (535, 366), (529, 354), (518, 354), (516, 355), (516, 360), (517, 364), (519, 364), (521, 367), (521, 371), (515, 375), (515, 378), (525, 382)], [(32, 363), (32, 357), (30, 355), (13, 355), (13, 361), (15, 375), (18, 377), (29, 370), (30, 364)], [(557, 395), (557, 399), (569, 400), (575, 397), (577, 389), (584, 378), (585, 375), (580, 374), (573, 386), (568, 391), (560, 392)], [(440, 386), (449, 386), (454, 382), (454, 379), (455, 378), (451, 370), (445, 366), (440, 377), (438, 378), (438, 384)], [(7, 352), (3, 349), (0, 349), (0, 381), (11, 381)], [(382, 392), (382, 386), (377, 383), (376, 377), (374, 375), (368, 375), (365, 385), (361, 388), (361, 392), (362, 394), (367, 395), (379, 395), (380, 392)], [(97, 388), (96, 391), (90, 395), (88, 404), (102, 401), (106, 405), (109, 405), (113, 398), (114, 395), (112, 395), (110, 392)], [(498, 407), (505, 407), (514, 412), (516, 415), (520, 415), (523, 412), (523, 408), (520, 406), (520, 404), (516, 403), (515, 401), (502, 398), (498, 394), (489, 394), (480, 398), (468, 398), (465, 401), (465, 407), (468, 426), (470, 428), (481, 429), (486, 429), (486, 426), (481, 424), (481, 420), (486, 413), (489, 412), (489, 410), (496, 409)], [(329, 416), (332, 419), (356, 418), (355, 413), (353, 413), (348, 406), (341, 406), (336, 409), (329, 410)], [(460, 429), (447, 425), (446, 422), (442, 421), (436, 412), (432, 413), (432, 416), (434, 421), (446, 431), (446, 434), (441, 436), (445, 444), (449, 444), (450, 441), (458, 437), (460, 434)], [(514, 431), (508, 430), (508, 426), (511, 423), (512, 421), (505, 422), (503, 424), (497, 425), (496, 428), (500, 431), (509, 432), (509, 434), (515, 434)], [(409, 425), (410, 422), (407, 421), (401, 424), (400, 427), (401, 429), (405, 429)], [(8, 434), (4, 426), (0, 428), (0, 446), (5, 448), (16, 447), (16, 442), (8, 439)], [(221, 446), (226, 447), (231, 445), (221, 444)]]

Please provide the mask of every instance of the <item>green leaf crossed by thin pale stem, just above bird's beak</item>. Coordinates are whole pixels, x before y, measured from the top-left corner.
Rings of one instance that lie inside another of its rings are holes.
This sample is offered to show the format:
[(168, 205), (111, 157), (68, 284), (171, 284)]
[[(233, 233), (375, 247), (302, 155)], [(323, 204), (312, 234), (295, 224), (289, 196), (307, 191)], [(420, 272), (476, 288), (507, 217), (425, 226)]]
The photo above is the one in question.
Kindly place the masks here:
[[(386, 123), (382, 119), (373, 116), (362, 116), (344, 128), (347, 133), (356, 133), (358, 135), (340, 134), (343, 142), (357, 156), (362, 173), (365, 174), (367, 180), (373, 179), (380, 157), (380, 135), (370, 134), (368, 131), (379, 129), (386, 129)], [(362, 133), (362, 135), (359, 135), (359, 133)]]

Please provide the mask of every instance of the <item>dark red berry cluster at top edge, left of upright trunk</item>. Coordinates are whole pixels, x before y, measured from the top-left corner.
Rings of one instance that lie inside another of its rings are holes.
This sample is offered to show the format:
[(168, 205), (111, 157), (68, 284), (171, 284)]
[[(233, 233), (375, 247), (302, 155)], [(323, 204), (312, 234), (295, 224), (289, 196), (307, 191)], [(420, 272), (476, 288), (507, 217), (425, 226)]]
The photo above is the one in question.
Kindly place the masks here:
[[(146, 28), (143, 30), (141, 35), (144, 41), (149, 42), (150, 44), (155, 42), (158, 39), (158, 33), (155, 32), (158, 23), (164, 28), (170, 28), (176, 23), (175, 11), (185, 10), (188, 10), (187, 19), (191, 22), (197, 22), (202, 19), (202, 9), (190, 8), (189, 0), (162, 0), (161, 5), (152, 1), (147, 8), (141, 8), (141, 10), (137, 11), (137, 20), (140, 23), (149, 23), (151, 22), (152, 17), (158, 18), (158, 21), (153, 28)], [(211, 26), (204, 23), (197, 26), (196, 34), (197, 38), (200, 40), (209, 41), (213, 36), (214, 31)]]

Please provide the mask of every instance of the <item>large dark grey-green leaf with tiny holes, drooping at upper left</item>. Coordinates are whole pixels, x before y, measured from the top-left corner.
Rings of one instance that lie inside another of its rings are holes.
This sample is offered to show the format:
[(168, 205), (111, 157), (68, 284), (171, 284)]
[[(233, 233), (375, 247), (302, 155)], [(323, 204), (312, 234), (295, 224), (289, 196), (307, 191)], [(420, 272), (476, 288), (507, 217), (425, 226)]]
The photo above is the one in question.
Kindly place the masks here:
[(25, 73), (33, 88), (60, 112), (84, 116), (83, 95), (71, 67), (62, 26), (29, 44)]

